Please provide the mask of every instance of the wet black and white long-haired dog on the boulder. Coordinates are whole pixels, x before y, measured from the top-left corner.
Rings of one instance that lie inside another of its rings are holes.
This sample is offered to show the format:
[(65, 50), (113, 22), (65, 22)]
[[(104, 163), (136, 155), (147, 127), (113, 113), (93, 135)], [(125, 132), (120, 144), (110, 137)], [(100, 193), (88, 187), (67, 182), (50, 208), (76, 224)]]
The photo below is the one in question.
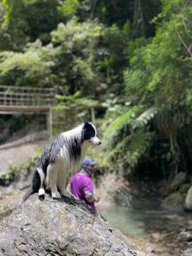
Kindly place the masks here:
[(101, 141), (96, 137), (96, 128), (90, 122), (84, 122), (59, 134), (44, 148), (31, 187), (23, 201), (36, 192), (39, 196), (44, 195), (45, 189), (51, 189), (52, 198), (61, 198), (61, 195), (70, 197), (66, 191), (68, 172), (79, 170), (89, 145), (100, 144)]

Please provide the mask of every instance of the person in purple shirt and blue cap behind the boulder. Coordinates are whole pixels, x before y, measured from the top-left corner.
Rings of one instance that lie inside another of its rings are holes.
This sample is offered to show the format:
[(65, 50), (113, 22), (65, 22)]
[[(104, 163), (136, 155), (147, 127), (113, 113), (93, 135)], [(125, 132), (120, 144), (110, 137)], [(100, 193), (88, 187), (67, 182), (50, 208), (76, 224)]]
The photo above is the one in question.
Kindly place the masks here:
[(71, 192), (81, 201), (84, 201), (95, 212), (96, 208), (94, 202), (99, 202), (99, 198), (93, 195), (93, 183), (91, 175), (93, 173), (94, 165), (96, 161), (92, 161), (89, 158), (85, 158), (82, 162), (81, 171), (76, 173), (71, 179)]

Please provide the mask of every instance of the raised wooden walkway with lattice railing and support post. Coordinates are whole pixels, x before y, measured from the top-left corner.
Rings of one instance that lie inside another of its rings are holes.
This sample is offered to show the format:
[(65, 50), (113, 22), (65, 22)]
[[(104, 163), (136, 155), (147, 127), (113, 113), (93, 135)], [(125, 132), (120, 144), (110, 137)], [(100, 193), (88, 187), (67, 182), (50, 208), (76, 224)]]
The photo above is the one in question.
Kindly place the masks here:
[(0, 85), (0, 114), (47, 114), (52, 135), (52, 106), (56, 105), (55, 88)]

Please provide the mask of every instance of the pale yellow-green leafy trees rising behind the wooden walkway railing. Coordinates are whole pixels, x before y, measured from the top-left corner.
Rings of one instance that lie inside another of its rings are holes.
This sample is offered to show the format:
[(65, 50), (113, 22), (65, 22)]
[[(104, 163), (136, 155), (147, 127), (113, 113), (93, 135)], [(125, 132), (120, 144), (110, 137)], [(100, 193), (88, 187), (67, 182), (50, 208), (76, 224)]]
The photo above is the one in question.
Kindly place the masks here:
[(1, 52), (1, 83), (58, 84), (67, 95), (81, 90), (82, 96), (91, 97), (121, 90), (126, 41), (117, 26), (107, 28), (98, 20), (80, 23), (73, 18), (59, 23), (51, 37), (46, 46), (36, 40), (27, 43), (22, 52)]

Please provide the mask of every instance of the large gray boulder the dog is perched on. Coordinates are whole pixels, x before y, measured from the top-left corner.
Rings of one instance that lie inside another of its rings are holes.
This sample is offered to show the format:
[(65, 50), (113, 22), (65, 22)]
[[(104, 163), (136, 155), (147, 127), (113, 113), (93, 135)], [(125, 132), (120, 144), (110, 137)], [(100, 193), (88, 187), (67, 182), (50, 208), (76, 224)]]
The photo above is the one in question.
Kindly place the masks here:
[(37, 194), (0, 223), (0, 255), (147, 256), (83, 202)]

